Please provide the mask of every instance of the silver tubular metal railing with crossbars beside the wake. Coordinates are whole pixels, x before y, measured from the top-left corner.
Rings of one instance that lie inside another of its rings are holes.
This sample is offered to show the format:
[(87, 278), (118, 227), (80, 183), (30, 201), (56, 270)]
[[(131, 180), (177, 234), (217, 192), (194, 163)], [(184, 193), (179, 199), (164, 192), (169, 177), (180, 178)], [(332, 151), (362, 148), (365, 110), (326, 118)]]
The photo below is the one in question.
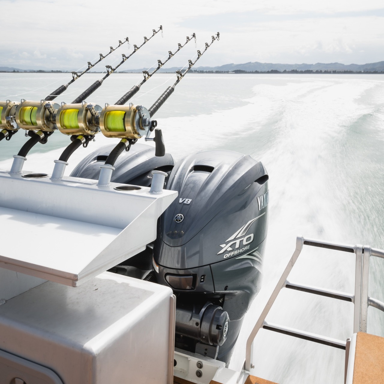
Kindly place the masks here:
[[(310, 285), (303, 285), (293, 283), (287, 280), (293, 266), (296, 263), (297, 258), (300, 255), (303, 245), (310, 245), (312, 247), (327, 248), (342, 252), (354, 253), (356, 257), (356, 269), (355, 269), (355, 291), (354, 295), (349, 293), (327, 290)], [(245, 352), (245, 371), (250, 371), (254, 367), (252, 364), (252, 344), (260, 328), (268, 329), (270, 331), (287, 334), (300, 339), (314, 341), (316, 343), (325, 344), (334, 348), (347, 349), (348, 341), (332, 339), (326, 336), (321, 336), (315, 333), (300, 331), (299, 329), (289, 328), (278, 324), (271, 324), (265, 321), (271, 306), (276, 300), (276, 297), (282, 288), (293, 289), (296, 291), (302, 291), (307, 293), (313, 293), (314, 295), (326, 296), (338, 300), (350, 301), (354, 303), (353, 313), (353, 333), (366, 332), (367, 331), (367, 312), (368, 306), (373, 306), (381, 311), (384, 311), (384, 303), (368, 296), (368, 278), (369, 278), (369, 258), (371, 256), (384, 258), (384, 251), (371, 248), (369, 245), (347, 245), (337, 244), (331, 242), (324, 242), (321, 240), (307, 239), (304, 237), (297, 237), (296, 249), (293, 253), (291, 260), (288, 262), (283, 275), (281, 275), (273, 293), (266, 303), (266, 306), (257, 320), (252, 332), (247, 340), (246, 352)], [(348, 356), (346, 356), (348, 358)]]

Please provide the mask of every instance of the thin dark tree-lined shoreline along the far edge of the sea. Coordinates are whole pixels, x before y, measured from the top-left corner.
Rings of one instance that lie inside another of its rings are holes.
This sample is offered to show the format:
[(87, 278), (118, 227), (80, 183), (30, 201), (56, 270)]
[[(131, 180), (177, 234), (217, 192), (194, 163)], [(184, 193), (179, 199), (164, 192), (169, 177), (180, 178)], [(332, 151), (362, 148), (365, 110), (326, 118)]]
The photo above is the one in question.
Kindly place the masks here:
[[(43, 70), (37, 70), (37, 71), (0, 71), (0, 73), (71, 73), (70, 71), (43, 71)], [(104, 72), (86, 72), (86, 74), (89, 73), (105, 73)], [(142, 72), (114, 72), (113, 74), (142, 74)], [(159, 72), (164, 74), (174, 74), (175, 72)], [(298, 70), (290, 70), (290, 71), (278, 71), (278, 70), (270, 70), (270, 71), (243, 71), (243, 70), (235, 70), (235, 71), (197, 71), (197, 70), (191, 70), (190, 73), (195, 74), (384, 74), (384, 71), (313, 71), (313, 70), (305, 70), (305, 71), (298, 71)]]

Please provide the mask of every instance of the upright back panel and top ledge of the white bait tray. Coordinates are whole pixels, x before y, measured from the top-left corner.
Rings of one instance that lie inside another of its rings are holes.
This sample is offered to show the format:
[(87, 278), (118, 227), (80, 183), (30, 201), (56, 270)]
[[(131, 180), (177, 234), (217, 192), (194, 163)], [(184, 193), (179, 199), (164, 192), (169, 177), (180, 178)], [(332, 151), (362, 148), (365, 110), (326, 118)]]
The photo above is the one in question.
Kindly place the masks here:
[(152, 195), (147, 187), (118, 191), (114, 187), (121, 184), (98, 187), (78, 180), (25, 179), (0, 173), (0, 206), (123, 229), (154, 200), (170, 195), (175, 199), (177, 194), (164, 190), (161, 195)]

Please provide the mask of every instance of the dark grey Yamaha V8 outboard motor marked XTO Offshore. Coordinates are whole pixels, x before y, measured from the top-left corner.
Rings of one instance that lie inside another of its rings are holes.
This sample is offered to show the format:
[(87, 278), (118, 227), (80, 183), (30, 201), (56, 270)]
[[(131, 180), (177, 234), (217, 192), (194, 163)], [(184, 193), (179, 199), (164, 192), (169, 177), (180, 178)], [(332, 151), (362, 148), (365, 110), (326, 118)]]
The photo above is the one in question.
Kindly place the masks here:
[(176, 164), (167, 189), (179, 197), (160, 219), (153, 265), (177, 296), (175, 345), (228, 362), (260, 289), (268, 174), (250, 156), (204, 151)]

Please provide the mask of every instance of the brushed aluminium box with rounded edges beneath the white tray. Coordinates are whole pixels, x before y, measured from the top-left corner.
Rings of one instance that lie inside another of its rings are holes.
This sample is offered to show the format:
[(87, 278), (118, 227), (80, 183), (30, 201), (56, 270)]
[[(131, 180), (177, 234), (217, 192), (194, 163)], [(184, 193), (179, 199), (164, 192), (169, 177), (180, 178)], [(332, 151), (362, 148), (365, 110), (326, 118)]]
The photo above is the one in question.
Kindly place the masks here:
[(77, 288), (47, 281), (0, 305), (1, 349), (63, 383), (165, 384), (173, 297), (169, 287), (109, 272)]

